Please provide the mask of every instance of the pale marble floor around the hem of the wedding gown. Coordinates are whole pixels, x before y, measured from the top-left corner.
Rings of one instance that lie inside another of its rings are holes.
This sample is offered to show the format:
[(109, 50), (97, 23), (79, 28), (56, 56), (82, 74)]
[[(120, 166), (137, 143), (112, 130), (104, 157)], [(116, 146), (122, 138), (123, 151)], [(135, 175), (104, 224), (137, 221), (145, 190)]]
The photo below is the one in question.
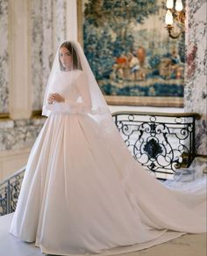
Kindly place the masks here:
[[(9, 234), (11, 215), (0, 216), (0, 256), (42, 256), (39, 248)], [(161, 245), (120, 256), (206, 256), (206, 234), (187, 234)], [(48, 256), (48, 255), (47, 255)]]

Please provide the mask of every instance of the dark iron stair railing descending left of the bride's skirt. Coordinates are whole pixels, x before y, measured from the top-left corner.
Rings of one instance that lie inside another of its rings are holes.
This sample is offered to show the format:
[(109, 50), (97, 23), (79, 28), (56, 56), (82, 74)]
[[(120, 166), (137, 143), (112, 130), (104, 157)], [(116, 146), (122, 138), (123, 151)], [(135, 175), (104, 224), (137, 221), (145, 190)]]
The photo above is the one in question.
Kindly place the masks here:
[(15, 211), (24, 174), (25, 167), (0, 183), (0, 216)]

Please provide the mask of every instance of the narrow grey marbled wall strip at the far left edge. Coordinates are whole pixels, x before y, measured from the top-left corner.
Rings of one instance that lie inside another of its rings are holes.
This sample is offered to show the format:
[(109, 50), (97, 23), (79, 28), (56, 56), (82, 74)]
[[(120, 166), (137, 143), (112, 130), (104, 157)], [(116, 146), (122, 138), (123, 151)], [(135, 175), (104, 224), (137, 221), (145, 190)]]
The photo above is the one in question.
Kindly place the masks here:
[(0, 1), (0, 113), (9, 112), (8, 0)]

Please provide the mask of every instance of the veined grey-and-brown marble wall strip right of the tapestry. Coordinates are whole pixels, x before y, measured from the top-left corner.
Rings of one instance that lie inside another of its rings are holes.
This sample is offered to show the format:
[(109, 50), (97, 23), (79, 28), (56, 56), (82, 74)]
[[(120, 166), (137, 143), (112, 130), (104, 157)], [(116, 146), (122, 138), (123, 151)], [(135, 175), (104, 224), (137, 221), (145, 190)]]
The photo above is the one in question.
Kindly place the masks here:
[(186, 60), (186, 86), (185, 86), (185, 112), (196, 112), (202, 114), (200, 121), (196, 124), (196, 149), (198, 154), (207, 155), (207, 20), (206, 1), (189, 0), (189, 26), (186, 37), (188, 46)]

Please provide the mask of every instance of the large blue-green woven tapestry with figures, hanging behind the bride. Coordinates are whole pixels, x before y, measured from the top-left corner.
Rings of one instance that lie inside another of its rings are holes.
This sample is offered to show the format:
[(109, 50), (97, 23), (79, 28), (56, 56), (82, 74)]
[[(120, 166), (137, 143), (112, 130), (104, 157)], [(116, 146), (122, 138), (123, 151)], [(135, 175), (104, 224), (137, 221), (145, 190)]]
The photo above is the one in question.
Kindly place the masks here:
[(169, 38), (164, 2), (78, 0), (79, 40), (108, 103), (182, 106), (185, 38)]

